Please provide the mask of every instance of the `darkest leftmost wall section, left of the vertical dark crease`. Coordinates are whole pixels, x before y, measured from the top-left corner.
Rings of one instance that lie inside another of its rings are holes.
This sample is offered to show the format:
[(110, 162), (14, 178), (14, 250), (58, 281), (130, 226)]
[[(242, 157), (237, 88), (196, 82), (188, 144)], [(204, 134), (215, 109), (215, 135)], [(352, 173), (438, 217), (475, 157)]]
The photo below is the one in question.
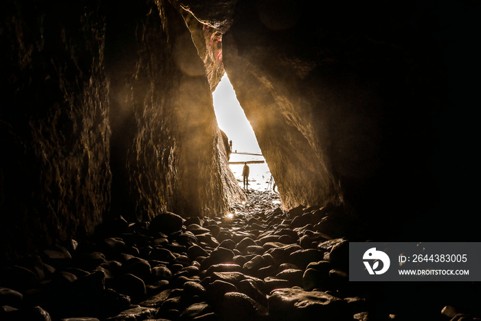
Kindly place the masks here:
[(109, 87), (97, 6), (1, 4), (0, 253), (86, 235), (109, 209)]

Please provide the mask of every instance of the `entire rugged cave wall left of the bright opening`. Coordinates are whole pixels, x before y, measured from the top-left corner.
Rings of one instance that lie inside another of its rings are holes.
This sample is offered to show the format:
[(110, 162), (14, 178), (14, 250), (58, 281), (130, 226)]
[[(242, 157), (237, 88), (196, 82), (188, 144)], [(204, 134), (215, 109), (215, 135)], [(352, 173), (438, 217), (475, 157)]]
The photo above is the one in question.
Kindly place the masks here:
[(119, 215), (216, 215), (243, 197), (204, 64), (168, 1), (1, 12), (2, 255)]

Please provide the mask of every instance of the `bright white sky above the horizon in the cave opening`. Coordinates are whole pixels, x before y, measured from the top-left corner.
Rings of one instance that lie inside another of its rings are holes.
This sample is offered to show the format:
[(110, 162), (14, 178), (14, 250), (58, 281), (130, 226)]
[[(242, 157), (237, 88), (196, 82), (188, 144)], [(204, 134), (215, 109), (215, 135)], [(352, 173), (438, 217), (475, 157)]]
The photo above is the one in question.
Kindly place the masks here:
[(254, 130), (245, 117), (244, 110), (240, 107), (236, 93), (230, 84), (227, 73), (224, 74), (216, 90), (214, 97), (214, 111), (219, 128), (232, 140), (232, 150), (237, 152), (260, 153)]

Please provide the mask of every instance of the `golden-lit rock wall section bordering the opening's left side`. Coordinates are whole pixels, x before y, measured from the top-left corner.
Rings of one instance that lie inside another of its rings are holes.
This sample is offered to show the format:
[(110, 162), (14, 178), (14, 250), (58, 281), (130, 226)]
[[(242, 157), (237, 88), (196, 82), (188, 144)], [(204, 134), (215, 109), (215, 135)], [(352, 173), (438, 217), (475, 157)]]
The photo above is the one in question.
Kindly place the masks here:
[(216, 215), (239, 200), (203, 61), (168, 1), (109, 5), (113, 215)]

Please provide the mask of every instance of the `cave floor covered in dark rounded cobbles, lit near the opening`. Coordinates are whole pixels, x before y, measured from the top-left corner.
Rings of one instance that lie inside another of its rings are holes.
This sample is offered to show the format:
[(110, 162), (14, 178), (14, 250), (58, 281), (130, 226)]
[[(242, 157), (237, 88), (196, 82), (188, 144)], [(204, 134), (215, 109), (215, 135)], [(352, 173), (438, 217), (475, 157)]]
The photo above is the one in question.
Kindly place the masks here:
[(5, 262), (0, 320), (480, 320), (477, 283), (349, 282), (348, 241), (366, 239), (341, 209), (248, 195), (225, 217), (120, 218)]

